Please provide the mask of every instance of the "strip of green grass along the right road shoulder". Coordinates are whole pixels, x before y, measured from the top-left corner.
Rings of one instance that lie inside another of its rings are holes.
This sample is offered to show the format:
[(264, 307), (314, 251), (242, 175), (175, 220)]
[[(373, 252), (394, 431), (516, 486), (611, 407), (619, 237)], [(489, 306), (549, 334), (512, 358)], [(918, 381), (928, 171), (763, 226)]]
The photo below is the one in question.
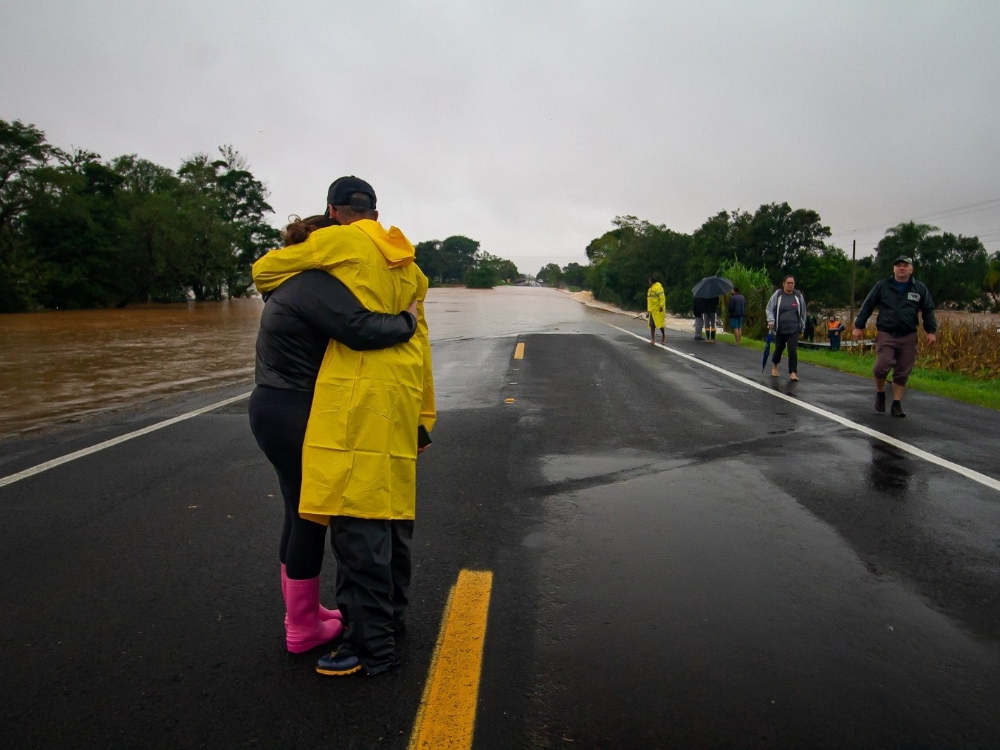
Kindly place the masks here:
[[(719, 338), (730, 342), (733, 340), (731, 334), (720, 334)], [(746, 336), (741, 339), (740, 346), (745, 349), (755, 349), (761, 353), (764, 351), (763, 341), (748, 339)], [(871, 378), (875, 355), (863, 354), (859, 356), (846, 351), (831, 352), (800, 348), (799, 361)], [(948, 370), (914, 367), (906, 387), (1000, 411), (1000, 381), (997, 380), (974, 380), (966, 375)]]

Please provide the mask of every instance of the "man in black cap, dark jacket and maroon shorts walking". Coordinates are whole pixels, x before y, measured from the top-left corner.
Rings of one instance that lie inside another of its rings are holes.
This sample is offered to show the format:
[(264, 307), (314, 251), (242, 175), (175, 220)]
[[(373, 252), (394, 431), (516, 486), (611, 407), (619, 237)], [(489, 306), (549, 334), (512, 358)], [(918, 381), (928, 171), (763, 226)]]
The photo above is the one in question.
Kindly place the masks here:
[(851, 332), (855, 341), (864, 336), (872, 312), (878, 309), (875, 328), (875, 411), (885, 411), (885, 382), (892, 371), (892, 406), (889, 413), (905, 417), (903, 392), (917, 361), (917, 316), (923, 322), (927, 343), (937, 340), (934, 300), (927, 287), (913, 278), (913, 258), (900, 255), (892, 263), (892, 276), (877, 282), (858, 310)]

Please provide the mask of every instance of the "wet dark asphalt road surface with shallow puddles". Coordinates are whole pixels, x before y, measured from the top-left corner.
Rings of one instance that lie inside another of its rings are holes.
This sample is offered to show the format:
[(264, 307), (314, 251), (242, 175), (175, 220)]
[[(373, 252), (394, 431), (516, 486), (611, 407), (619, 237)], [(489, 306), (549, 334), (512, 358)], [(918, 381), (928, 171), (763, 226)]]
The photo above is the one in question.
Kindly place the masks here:
[[(383, 678), (284, 653), (245, 403), (0, 488), (0, 745), (406, 747), (478, 568), (479, 750), (1000, 747), (1000, 493), (606, 325), (640, 321), (570, 317), (435, 343), (411, 629)], [(1000, 476), (996, 412), (911, 393), (892, 420), (860, 378), (668, 346)], [(239, 392), (8, 442), (0, 473)]]

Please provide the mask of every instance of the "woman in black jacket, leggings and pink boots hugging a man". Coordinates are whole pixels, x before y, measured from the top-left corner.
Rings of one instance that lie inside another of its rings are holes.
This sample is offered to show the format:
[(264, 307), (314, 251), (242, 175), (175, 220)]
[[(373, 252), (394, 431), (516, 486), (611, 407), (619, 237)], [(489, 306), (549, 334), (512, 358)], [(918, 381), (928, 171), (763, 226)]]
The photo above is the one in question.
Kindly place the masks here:
[[(297, 220), (285, 229), (285, 244), (302, 242), (332, 223), (323, 216)], [(364, 351), (409, 341), (416, 330), (415, 302), (398, 315), (371, 312), (323, 271), (301, 273), (264, 295), (250, 429), (274, 466), (285, 505), (278, 559), (285, 644), (292, 653), (332, 641), (342, 629), (341, 613), (320, 604), (326, 519), (299, 515), (302, 444), (323, 355), (331, 339)]]

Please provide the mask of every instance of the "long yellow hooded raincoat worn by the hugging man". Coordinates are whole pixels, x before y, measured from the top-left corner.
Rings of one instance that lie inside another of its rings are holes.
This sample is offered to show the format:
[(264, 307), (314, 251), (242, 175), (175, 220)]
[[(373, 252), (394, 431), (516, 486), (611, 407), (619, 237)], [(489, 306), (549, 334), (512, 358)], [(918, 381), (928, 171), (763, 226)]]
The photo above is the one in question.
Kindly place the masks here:
[(427, 277), (413, 260), (402, 232), (363, 220), (318, 229), (254, 263), (261, 292), (321, 268), (374, 312), (398, 313), (418, 300), (417, 332), (407, 343), (366, 352), (336, 341), (327, 347), (302, 450), (303, 516), (414, 517), (417, 425), (430, 430), (437, 415), (423, 308)]

